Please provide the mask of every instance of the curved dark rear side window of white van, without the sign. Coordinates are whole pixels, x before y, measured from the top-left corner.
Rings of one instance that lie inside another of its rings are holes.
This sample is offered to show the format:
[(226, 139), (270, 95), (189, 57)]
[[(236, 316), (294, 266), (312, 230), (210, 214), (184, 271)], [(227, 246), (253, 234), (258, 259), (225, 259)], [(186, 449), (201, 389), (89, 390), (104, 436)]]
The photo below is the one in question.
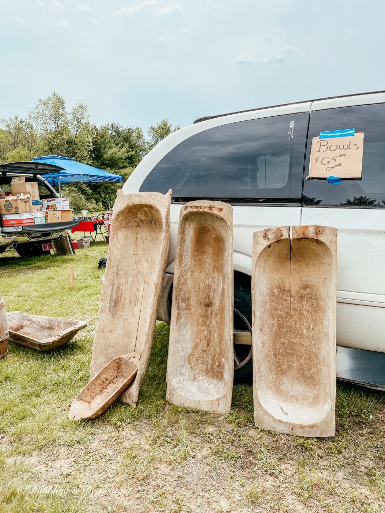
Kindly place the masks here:
[(197, 133), (150, 171), (141, 192), (174, 198), (292, 200), (302, 197), (308, 113), (229, 123)]

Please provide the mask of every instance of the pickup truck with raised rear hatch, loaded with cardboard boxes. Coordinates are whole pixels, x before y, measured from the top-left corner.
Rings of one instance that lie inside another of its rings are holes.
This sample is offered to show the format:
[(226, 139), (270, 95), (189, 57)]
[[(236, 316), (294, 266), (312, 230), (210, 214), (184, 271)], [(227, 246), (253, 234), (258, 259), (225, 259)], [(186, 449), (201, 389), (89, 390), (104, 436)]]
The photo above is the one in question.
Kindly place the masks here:
[[(11, 180), (23, 174), (27, 182), (37, 182), (40, 198), (59, 198), (57, 192), (46, 181), (44, 175), (60, 173), (63, 168), (37, 162), (13, 162), (0, 165), (0, 190), (11, 193)], [(0, 226), (0, 253), (14, 248), (21, 257), (38, 257), (49, 254), (52, 243), (68, 238), (68, 229), (79, 221), (49, 223), (44, 225), (26, 225), (21, 230), (4, 231)]]

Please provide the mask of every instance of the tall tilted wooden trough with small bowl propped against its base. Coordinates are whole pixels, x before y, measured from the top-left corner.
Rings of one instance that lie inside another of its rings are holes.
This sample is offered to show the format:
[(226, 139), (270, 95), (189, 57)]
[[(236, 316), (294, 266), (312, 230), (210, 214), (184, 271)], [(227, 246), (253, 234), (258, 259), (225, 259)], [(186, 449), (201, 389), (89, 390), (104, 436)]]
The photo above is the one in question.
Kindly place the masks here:
[(136, 406), (150, 358), (170, 241), (171, 191), (124, 194), (113, 207), (106, 273), (92, 345), (90, 378), (110, 360), (140, 354), (121, 399)]

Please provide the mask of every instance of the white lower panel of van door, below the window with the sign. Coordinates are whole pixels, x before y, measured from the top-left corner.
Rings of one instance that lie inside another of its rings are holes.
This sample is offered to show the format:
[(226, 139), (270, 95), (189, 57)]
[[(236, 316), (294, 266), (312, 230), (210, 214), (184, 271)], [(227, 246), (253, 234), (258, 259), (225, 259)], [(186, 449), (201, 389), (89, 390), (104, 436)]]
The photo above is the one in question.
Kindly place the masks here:
[(385, 352), (385, 210), (304, 207), (302, 224), (338, 230), (337, 344)]

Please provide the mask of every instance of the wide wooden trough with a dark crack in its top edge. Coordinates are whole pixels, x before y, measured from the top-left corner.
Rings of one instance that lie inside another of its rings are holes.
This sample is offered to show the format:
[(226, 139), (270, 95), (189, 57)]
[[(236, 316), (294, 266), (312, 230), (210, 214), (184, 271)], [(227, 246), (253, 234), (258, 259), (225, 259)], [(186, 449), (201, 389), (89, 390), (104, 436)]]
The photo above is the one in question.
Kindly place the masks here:
[(335, 434), (337, 230), (254, 233), (255, 424), (300, 436)]

